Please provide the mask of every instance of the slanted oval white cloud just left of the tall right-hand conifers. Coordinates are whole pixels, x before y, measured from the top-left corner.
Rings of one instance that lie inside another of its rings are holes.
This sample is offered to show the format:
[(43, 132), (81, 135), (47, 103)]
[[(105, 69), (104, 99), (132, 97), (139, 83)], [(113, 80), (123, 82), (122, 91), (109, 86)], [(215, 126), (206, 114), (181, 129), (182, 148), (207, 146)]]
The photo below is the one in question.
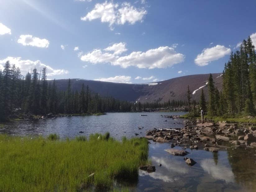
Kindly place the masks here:
[(202, 53), (197, 55), (194, 60), (195, 64), (198, 66), (208, 65), (210, 62), (218, 60), (225, 55), (229, 55), (231, 53), (230, 48), (226, 48), (223, 45), (216, 45), (212, 48), (203, 49)]

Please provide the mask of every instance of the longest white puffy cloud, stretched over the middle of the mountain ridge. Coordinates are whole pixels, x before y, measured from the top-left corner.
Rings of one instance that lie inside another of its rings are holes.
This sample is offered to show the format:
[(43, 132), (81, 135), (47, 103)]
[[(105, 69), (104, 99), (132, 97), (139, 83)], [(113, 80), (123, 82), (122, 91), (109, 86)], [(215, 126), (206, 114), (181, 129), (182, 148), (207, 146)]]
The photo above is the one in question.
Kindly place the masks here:
[(183, 62), (185, 55), (176, 53), (174, 48), (159, 47), (149, 49), (146, 52), (132, 52), (126, 56), (118, 56), (112, 53), (103, 53), (100, 49), (86, 53), (81, 57), (82, 61), (96, 63), (111, 63), (122, 68), (136, 66), (138, 68), (166, 68)]

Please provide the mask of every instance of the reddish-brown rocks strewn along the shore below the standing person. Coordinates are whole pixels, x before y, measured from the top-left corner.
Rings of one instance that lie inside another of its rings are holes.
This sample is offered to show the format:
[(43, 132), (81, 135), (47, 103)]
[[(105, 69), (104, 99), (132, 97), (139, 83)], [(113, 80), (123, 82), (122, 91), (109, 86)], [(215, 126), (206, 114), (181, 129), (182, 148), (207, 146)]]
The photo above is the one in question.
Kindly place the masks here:
[[(179, 116), (162, 116), (176, 119)], [(145, 138), (154, 142), (171, 142), (171, 149), (166, 150), (173, 155), (186, 155), (186, 151), (172, 150), (176, 145), (183, 149), (204, 149), (217, 153), (223, 149), (255, 149), (256, 124), (230, 123), (226, 121), (214, 123), (208, 120), (184, 121), (185, 127), (176, 129), (153, 129), (146, 132)], [(253, 153), (255, 153), (255, 150)], [(254, 154), (256, 156), (256, 154)]]

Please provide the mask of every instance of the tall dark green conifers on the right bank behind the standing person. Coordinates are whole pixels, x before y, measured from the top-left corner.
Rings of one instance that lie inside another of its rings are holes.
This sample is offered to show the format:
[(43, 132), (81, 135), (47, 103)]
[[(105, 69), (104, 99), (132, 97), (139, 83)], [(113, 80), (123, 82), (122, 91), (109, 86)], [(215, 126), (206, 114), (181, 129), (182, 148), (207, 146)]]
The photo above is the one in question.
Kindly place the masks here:
[[(199, 106), (209, 117), (224, 114), (255, 114), (256, 107), (256, 53), (250, 37), (243, 40), (240, 49), (231, 53), (224, 65), (222, 74), (223, 87), (218, 90), (214, 86), (213, 76), (208, 79), (208, 101), (205, 100), (203, 89)], [(188, 86), (187, 98), (190, 104)], [(197, 116), (198, 116), (198, 112)]]

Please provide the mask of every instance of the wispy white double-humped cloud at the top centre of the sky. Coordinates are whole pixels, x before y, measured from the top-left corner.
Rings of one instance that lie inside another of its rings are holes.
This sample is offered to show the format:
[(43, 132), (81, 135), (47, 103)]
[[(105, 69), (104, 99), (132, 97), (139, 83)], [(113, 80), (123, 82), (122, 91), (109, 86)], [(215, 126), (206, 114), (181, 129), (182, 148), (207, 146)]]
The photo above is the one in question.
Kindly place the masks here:
[(92, 11), (81, 17), (81, 20), (92, 21), (100, 19), (101, 22), (109, 23), (110, 28), (113, 29), (112, 25), (114, 24), (124, 25), (126, 22), (135, 24), (137, 21), (143, 21), (143, 17), (146, 14), (147, 11), (144, 8), (136, 8), (128, 2), (124, 2), (119, 6), (118, 3), (105, 1), (97, 3)]

